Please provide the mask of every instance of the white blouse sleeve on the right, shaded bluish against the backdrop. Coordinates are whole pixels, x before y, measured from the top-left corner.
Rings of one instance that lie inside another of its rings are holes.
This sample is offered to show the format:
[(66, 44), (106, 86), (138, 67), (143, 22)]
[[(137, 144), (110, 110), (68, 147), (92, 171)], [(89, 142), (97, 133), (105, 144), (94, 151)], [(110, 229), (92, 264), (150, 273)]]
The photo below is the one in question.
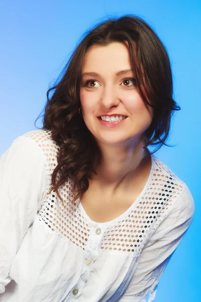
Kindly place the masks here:
[(194, 215), (193, 197), (186, 186), (172, 204), (166, 218), (144, 246), (133, 278), (118, 300), (121, 302), (151, 302), (159, 279), (175, 252)]

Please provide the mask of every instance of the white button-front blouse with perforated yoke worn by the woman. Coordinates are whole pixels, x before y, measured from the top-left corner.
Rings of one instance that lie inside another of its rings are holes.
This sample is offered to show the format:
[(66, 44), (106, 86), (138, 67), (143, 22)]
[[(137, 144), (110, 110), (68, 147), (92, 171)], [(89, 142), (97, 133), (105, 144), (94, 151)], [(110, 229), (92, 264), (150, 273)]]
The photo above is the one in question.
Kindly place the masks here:
[[(0, 301), (153, 301), (194, 215), (187, 185), (152, 155), (137, 200), (112, 221), (94, 222), (80, 200), (64, 207), (47, 194), (58, 150), (51, 131), (39, 129), (0, 159)], [(71, 179), (59, 192), (70, 200)]]

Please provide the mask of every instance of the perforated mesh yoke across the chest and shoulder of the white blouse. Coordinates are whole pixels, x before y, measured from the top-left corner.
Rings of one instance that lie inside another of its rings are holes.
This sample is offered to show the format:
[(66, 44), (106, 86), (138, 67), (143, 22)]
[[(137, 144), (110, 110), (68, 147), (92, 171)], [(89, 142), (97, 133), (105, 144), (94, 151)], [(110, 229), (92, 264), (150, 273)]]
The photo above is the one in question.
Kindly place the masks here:
[[(50, 185), (52, 172), (57, 165), (58, 144), (51, 138), (49, 130), (33, 130), (24, 135), (34, 139), (46, 157)], [(134, 202), (129, 212), (126, 211), (123, 217), (121, 215), (120, 220), (114, 219), (114, 223), (107, 225), (99, 245), (99, 251), (102, 253), (112, 250), (139, 254), (150, 230), (153, 232), (157, 228), (166, 210), (181, 193), (182, 182), (155, 156), (153, 165), (151, 179), (140, 200), (136, 204)], [(72, 194), (70, 179), (59, 188), (59, 193), (66, 201), (65, 206), (55, 191), (52, 191), (46, 196), (39, 210), (39, 219), (44, 221), (52, 232), (84, 250), (93, 226), (88, 223), (86, 216), (82, 215), (79, 200), (73, 205), (69, 203)]]

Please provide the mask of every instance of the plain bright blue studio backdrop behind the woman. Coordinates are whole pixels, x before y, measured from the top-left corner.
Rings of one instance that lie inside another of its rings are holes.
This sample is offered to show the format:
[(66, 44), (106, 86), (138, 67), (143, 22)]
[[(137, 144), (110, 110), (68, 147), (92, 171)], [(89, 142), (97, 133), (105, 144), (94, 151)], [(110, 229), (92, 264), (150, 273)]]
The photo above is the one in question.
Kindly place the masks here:
[(155, 302), (199, 301), (200, 0), (2, 2), (0, 156), (17, 136), (36, 129), (47, 89), (83, 32), (107, 16), (127, 13), (144, 18), (169, 53), (174, 98), (181, 110), (175, 113), (167, 141), (175, 146), (163, 146), (155, 155), (187, 184), (195, 202), (192, 224), (160, 279)]

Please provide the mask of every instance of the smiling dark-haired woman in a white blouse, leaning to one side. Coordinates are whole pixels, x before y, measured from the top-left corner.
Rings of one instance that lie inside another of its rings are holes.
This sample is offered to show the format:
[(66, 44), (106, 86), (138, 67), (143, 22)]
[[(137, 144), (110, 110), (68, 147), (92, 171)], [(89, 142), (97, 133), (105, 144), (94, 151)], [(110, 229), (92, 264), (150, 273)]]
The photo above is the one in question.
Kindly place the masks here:
[(180, 109), (163, 44), (133, 15), (103, 22), (47, 98), (0, 162), (0, 300), (153, 301), (194, 214), (148, 149)]

